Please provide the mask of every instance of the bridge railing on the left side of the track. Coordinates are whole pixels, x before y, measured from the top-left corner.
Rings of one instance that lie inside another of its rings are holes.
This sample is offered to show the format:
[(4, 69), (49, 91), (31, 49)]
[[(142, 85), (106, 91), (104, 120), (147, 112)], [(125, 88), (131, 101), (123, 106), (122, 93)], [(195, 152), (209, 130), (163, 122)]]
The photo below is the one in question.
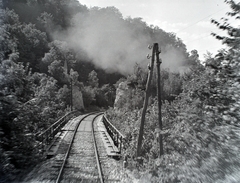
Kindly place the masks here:
[(49, 128), (45, 131), (40, 132), (36, 135), (36, 139), (40, 142), (39, 146), (42, 146), (42, 150), (46, 145), (49, 145), (51, 140), (55, 137), (55, 135), (61, 130), (61, 128), (75, 115), (80, 113), (79, 111), (71, 111), (65, 114), (63, 117), (58, 119), (55, 123), (53, 123)]

